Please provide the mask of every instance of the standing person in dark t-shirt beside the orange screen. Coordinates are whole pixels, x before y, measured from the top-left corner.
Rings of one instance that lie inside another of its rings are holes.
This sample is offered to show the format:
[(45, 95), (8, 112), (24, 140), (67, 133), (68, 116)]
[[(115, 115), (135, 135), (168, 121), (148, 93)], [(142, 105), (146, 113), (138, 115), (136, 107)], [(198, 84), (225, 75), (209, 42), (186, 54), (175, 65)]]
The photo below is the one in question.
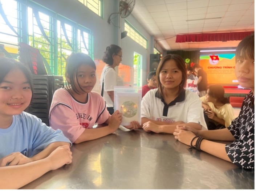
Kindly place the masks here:
[(197, 73), (197, 89), (199, 91), (199, 97), (206, 95), (206, 90), (208, 86), (207, 73), (199, 64), (193, 66), (195, 72)]

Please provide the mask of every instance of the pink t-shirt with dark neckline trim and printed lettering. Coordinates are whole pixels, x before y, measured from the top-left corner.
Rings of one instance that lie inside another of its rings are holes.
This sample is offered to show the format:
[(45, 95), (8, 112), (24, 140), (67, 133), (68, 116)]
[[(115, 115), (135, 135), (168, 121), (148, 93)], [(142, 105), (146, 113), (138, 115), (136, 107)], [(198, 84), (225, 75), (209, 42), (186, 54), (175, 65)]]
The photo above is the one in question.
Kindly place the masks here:
[(105, 100), (97, 92), (90, 92), (88, 102), (82, 103), (74, 99), (68, 90), (61, 88), (53, 94), (49, 122), (53, 129), (62, 130), (74, 143), (86, 128), (105, 123), (110, 116)]

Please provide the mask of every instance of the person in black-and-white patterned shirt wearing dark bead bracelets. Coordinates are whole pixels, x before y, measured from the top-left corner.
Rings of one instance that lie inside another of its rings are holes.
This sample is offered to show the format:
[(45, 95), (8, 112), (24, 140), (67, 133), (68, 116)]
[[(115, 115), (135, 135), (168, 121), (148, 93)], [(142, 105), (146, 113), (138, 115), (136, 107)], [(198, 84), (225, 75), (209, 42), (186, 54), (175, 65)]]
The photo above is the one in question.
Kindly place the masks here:
[[(210, 153), (241, 167), (254, 169), (254, 34), (245, 37), (236, 48), (235, 74), (239, 84), (250, 88), (239, 116), (228, 128), (198, 131), (189, 126), (177, 126), (175, 139), (198, 150)], [(210, 140), (233, 141), (231, 144)]]

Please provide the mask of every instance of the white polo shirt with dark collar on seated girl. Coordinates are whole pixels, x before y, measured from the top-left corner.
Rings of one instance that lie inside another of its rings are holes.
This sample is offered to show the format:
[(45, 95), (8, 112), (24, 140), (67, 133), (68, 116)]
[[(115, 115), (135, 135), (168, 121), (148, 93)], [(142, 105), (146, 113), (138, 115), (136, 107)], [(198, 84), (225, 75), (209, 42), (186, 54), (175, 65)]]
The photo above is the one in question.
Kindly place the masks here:
[(202, 102), (197, 94), (184, 90), (174, 101), (168, 105), (156, 93), (158, 88), (149, 90), (142, 98), (141, 117), (156, 121), (173, 123), (198, 123), (207, 129), (204, 120)]

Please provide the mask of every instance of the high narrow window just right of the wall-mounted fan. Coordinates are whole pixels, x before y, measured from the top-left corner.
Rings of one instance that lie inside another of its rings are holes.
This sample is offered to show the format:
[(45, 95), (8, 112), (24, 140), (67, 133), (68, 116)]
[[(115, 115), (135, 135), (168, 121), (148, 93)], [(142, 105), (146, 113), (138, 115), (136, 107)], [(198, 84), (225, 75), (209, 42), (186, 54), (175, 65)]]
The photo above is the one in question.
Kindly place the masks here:
[(147, 39), (134, 29), (134, 27), (132, 27), (127, 21), (125, 21), (125, 30), (127, 31), (127, 36), (147, 49)]

